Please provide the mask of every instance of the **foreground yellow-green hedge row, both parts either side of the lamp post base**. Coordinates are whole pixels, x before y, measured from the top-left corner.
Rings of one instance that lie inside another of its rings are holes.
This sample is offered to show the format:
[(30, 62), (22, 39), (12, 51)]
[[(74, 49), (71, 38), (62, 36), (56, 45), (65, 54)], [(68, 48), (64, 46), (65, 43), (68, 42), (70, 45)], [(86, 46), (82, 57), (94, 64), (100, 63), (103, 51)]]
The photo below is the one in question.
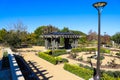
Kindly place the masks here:
[[(83, 65), (64, 64), (64, 69), (85, 79), (89, 80), (93, 77), (93, 68)], [(112, 74), (112, 75), (110, 75)], [(100, 80), (120, 80), (119, 72), (105, 72), (102, 71)], [(116, 76), (115, 76), (116, 75)]]

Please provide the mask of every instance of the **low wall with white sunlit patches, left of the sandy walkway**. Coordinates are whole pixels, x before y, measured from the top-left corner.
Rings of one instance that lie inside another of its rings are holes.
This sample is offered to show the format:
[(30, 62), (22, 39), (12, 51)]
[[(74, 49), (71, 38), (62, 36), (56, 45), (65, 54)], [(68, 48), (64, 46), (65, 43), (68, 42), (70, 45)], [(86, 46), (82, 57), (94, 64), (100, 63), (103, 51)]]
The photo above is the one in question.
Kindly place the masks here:
[(12, 80), (25, 80), (13, 54), (8, 54)]

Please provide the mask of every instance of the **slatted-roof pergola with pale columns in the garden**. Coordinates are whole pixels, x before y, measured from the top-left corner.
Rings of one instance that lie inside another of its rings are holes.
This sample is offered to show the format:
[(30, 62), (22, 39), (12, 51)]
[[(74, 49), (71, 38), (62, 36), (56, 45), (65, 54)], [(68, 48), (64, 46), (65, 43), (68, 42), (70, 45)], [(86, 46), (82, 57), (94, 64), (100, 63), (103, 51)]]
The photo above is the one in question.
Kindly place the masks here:
[[(80, 35), (74, 34), (72, 32), (51, 32), (42, 35), (45, 39), (45, 48), (46, 49), (58, 49), (60, 46), (60, 38), (64, 38), (64, 48), (76, 48), (78, 46), (78, 39)], [(72, 39), (72, 43), (70, 43)]]

